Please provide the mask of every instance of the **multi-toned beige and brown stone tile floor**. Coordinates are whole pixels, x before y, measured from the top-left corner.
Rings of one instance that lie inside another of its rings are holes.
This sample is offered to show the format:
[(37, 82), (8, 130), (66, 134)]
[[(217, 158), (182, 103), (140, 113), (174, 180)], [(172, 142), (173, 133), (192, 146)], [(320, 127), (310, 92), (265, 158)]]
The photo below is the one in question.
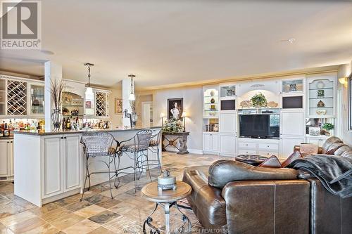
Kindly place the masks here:
[[(177, 155), (163, 152), (163, 167), (168, 167), (171, 174), (182, 179), (184, 167), (211, 164), (220, 157), (216, 155)], [(153, 179), (158, 171), (152, 171)], [(94, 176), (94, 175), (93, 175)], [(140, 189), (149, 183), (149, 177), (143, 176), (139, 190), (134, 193), (132, 175), (121, 178), (120, 187), (113, 189), (114, 199), (110, 197), (108, 183), (94, 186), (84, 193), (66, 197), (56, 202), (36, 207), (20, 197), (13, 195), (13, 183), (0, 183), (0, 233), (142, 233), (144, 219), (150, 214), (153, 202), (146, 201), (140, 195)], [(173, 225), (182, 223), (181, 216), (172, 207)], [(199, 233), (201, 224), (193, 212), (182, 209), (191, 219), (192, 230)], [(163, 228), (162, 208), (153, 214), (153, 224)]]

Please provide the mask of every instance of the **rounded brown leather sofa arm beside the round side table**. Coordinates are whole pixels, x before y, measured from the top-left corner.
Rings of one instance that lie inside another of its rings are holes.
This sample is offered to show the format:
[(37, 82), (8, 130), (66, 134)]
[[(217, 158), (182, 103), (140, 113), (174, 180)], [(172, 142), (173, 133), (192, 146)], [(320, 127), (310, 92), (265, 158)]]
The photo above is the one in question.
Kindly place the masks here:
[(184, 169), (183, 181), (192, 188), (187, 197), (191, 208), (206, 228), (221, 228), (226, 225), (226, 204), (221, 190), (208, 185), (209, 166)]

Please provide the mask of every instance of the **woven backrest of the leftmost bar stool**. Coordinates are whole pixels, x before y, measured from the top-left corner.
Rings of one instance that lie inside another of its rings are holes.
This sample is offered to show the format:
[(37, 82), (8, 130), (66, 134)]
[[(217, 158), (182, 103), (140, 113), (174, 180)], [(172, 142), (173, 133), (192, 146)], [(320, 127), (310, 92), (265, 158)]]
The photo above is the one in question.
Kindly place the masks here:
[(81, 138), (87, 157), (111, 155), (114, 142), (113, 135), (106, 132), (84, 133)]

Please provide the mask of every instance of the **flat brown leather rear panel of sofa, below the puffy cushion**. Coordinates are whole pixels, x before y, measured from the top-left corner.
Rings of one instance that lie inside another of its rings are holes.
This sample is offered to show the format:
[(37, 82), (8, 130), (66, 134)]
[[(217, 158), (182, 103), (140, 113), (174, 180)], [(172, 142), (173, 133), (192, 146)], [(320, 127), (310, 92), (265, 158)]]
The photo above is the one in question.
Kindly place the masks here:
[(309, 188), (306, 180), (227, 183), (229, 233), (309, 233)]

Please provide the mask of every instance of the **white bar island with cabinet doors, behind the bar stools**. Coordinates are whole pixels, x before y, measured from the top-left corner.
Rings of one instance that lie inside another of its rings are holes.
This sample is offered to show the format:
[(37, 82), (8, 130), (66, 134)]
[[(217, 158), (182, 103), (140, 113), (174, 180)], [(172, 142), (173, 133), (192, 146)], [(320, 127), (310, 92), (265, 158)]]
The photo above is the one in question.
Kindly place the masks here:
[[(13, 140), (14, 193), (28, 202), (41, 207), (63, 197), (82, 193), (86, 173), (86, 157), (80, 143), (84, 132), (107, 131), (117, 141), (132, 138), (143, 128), (92, 129), (81, 131), (30, 132), (16, 131)], [(160, 126), (150, 128), (153, 134)], [(160, 147), (161, 149), (161, 147)], [(150, 159), (156, 159), (156, 152), (148, 152)], [(161, 152), (159, 153), (161, 160)], [(133, 158), (132, 155), (130, 155)], [(120, 158), (120, 168), (130, 167), (133, 160), (127, 155)], [(108, 157), (90, 158), (89, 171), (106, 171), (99, 160)], [(127, 169), (126, 172), (132, 172)], [(108, 174), (94, 174), (92, 186), (108, 181)], [(86, 185), (86, 188), (88, 183)]]

